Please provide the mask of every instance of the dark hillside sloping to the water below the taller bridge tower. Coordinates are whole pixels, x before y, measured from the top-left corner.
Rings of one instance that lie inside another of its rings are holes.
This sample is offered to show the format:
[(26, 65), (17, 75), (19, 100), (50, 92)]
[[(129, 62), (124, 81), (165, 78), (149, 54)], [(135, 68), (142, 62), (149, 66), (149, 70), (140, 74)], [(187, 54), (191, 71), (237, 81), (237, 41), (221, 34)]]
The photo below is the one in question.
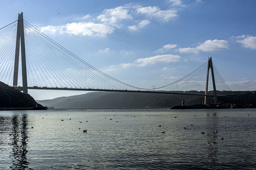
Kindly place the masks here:
[(24, 94), (0, 81), (0, 108), (30, 108), (36, 104), (29, 94)]

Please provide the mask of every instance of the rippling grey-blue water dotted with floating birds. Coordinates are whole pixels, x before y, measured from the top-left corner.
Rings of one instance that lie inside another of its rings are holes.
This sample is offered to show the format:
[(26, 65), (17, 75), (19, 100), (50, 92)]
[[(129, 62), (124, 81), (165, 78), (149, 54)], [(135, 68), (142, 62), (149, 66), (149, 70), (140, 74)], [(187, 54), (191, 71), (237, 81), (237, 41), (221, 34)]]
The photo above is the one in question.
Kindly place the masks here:
[(0, 169), (256, 169), (255, 125), (255, 109), (1, 111)]

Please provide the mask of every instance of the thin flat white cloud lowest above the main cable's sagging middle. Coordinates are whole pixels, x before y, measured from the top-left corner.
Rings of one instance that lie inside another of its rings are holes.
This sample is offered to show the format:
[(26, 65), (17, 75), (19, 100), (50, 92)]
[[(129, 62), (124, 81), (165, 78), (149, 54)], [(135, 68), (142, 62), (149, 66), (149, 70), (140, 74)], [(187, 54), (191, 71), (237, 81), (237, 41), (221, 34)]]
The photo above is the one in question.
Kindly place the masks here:
[(179, 55), (156, 55), (154, 57), (141, 58), (135, 61), (136, 66), (147, 66), (149, 64), (156, 64), (156, 62), (177, 62), (180, 60)]

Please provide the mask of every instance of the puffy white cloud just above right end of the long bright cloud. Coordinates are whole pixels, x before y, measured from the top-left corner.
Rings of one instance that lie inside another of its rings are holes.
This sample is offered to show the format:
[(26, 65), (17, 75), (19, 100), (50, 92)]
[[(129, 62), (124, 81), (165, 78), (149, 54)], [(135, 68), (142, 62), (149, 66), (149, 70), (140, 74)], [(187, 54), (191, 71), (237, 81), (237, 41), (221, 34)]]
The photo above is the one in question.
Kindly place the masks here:
[(129, 10), (125, 6), (118, 6), (116, 8), (104, 10), (102, 14), (97, 17), (97, 19), (106, 25), (115, 25), (118, 27), (117, 23), (120, 22), (120, 20), (132, 18), (128, 12)]

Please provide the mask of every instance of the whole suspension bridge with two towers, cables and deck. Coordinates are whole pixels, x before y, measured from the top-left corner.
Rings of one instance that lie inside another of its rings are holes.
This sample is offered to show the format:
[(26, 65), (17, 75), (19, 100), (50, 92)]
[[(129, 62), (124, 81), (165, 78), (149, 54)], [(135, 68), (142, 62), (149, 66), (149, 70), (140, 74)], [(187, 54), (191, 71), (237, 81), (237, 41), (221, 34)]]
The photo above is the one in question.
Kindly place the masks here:
[(0, 81), (26, 94), (28, 89), (182, 94), (204, 96), (206, 104), (207, 97), (214, 97), (214, 103), (218, 103), (218, 90), (230, 90), (211, 57), (191, 73), (161, 87), (130, 85), (49, 38), (24, 20), (23, 13), (0, 29), (0, 62)]

